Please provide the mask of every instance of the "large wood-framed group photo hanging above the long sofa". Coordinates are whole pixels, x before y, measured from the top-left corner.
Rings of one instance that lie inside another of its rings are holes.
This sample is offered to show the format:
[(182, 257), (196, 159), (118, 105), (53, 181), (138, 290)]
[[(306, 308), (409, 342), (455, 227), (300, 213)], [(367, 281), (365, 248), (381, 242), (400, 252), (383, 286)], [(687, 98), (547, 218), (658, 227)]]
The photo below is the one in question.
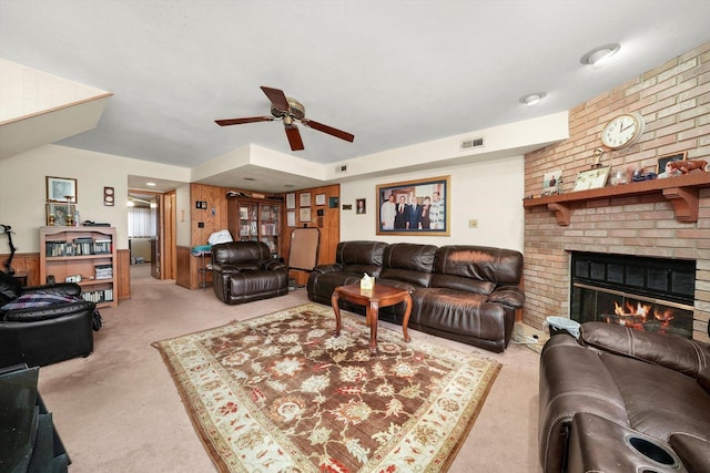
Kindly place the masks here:
[(450, 177), (377, 186), (377, 235), (450, 233)]

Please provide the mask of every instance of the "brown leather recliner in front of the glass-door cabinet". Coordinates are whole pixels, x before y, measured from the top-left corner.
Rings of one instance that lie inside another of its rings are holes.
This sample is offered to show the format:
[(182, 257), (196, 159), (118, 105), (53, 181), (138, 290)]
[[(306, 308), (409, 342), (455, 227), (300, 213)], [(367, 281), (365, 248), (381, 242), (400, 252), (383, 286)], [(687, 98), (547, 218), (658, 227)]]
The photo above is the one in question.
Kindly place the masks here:
[(230, 305), (284, 296), (288, 269), (272, 258), (263, 241), (230, 241), (212, 246), (214, 294)]

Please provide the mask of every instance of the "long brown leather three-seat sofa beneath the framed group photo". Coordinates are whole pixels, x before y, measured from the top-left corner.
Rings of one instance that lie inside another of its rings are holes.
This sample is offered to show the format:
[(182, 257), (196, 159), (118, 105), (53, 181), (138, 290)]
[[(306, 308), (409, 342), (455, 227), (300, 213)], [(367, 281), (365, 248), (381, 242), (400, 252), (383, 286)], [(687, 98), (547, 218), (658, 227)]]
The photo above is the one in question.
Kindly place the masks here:
[[(358, 282), (367, 273), (375, 284), (410, 292), (409, 327), (496, 352), (508, 346), (515, 311), (525, 302), (523, 255), (511, 249), (341, 241), (335, 259), (311, 273), (310, 300), (329, 305), (335, 287)], [(364, 312), (346, 301), (341, 307)], [(402, 302), (381, 308), (379, 318), (402, 323), (404, 312)]]

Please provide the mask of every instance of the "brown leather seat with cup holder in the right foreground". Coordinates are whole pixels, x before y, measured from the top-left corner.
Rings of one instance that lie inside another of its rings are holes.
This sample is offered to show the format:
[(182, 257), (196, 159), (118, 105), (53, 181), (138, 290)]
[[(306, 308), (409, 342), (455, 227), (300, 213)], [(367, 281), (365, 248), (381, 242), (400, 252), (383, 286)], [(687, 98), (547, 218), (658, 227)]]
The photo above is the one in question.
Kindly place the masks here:
[(545, 473), (710, 472), (710, 346), (588, 322), (540, 357)]

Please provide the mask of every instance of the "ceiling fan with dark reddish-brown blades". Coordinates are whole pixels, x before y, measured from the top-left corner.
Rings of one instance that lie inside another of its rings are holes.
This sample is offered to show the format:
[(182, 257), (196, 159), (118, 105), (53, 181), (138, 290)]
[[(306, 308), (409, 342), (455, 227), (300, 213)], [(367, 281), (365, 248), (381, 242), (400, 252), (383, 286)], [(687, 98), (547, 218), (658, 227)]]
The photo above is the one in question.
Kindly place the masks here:
[(355, 135), (351, 133), (306, 119), (306, 109), (303, 104), (293, 97), (286, 96), (284, 91), (263, 85), (262, 91), (264, 91), (271, 101), (271, 114), (273, 116), (250, 116), (246, 119), (215, 120), (214, 122), (220, 126), (226, 126), (241, 125), (243, 123), (273, 122), (276, 119), (282, 120), (284, 122), (284, 130), (286, 131), (286, 137), (288, 138), (288, 144), (291, 145), (292, 151), (304, 150), (303, 140), (301, 140), (301, 132), (298, 132), (296, 122), (301, 122), (303, 125), (313, 130), (327, 133), (328, 135), (351, 143), (355, 140)]

